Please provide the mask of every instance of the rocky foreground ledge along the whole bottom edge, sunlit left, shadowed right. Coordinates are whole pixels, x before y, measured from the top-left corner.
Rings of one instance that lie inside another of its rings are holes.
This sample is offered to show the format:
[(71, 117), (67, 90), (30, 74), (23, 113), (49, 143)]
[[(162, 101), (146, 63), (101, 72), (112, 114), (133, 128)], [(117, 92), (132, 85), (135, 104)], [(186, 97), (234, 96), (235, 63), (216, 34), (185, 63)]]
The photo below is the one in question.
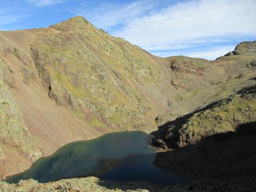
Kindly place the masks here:
[[(242, 180), (246, 182), (246, 180)], [(255, 180), (249, 180), (246, 185), (214, 179), (199, 179), (189, 183), (189, 185), (161, 186), (154, 183), (136, 182), (115, 182), (100, 181), (96, 177), (73, 178), (49, 183), (38, 183), (35, 180), (20, 181), (18, 184), (9, 184), (0, 181), (0, 191), (126, 191), (126, 192), (171, 192), (171, 191), (253, 191), (255, 188), (248, 185)]]

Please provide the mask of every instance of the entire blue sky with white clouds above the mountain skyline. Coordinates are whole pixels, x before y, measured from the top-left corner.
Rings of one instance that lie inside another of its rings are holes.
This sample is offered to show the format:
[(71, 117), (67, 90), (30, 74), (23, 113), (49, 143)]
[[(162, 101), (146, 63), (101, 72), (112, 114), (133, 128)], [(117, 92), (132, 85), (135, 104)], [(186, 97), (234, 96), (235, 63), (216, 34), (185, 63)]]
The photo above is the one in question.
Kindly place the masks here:
[(48, 27), (81, 15), (154, 55), (214, 60), (256, 40), (256, 0), (0, 0), (0, 30)]

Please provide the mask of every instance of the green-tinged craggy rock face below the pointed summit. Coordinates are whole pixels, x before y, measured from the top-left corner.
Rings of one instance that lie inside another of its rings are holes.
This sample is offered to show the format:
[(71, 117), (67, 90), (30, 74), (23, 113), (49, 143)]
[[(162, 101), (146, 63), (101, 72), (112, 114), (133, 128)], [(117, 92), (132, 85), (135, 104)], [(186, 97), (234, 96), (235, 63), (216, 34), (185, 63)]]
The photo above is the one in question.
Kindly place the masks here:
[[(48, 95), (58, 105), (89, 116), (92, 126), (126, 128), (111, 116), (122, 114), (131, 127), (146, 123), (150, 106), (134, 89), (136, 84), (155, 84), (160, 70), (137, 46), (97, 30), (81, 17), (51, 26), (39, 34), (31, 50)], [(128, 82), (128, 83), (127, 83)], [(80, 115), (82, 116), (82, 115)], [(152, 121), (153, 122), (153, 121)], [(146, 125), (147, 124), (147, 125)]]

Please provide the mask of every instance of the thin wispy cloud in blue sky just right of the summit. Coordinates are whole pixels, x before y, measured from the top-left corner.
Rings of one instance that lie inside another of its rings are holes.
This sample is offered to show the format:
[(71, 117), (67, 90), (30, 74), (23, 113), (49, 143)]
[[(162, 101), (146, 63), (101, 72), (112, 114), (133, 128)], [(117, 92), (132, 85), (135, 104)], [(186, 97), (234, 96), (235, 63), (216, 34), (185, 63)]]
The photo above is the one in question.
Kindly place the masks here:
[(83, 6), (73, 12), (85, 16), (98, 28), (116, 31), (121, 30), (132, 20), (157, 10), (165, 1), (141, 0), (130, 3), (125, 1), (89, 1), (90, 3), (83, 3)]

